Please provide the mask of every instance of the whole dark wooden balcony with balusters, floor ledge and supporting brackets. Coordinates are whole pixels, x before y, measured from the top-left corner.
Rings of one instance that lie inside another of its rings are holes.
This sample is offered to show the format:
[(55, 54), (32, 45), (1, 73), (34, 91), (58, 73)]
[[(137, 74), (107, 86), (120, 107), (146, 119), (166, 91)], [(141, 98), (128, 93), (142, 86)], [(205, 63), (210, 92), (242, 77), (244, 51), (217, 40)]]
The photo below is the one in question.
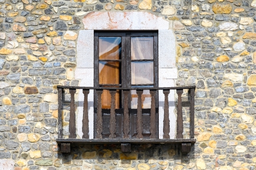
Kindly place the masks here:
[[(62, 152), (69, 152), (70, 143), (181, 143), (182, 151), (189, 152), (191, 143), (195, 143), (194, 139), (194, 92), (195, 86), (187, 87), (168, 87), (168, 88), (95, 88), (95, 87), (71, 87), (71, 86), (57, 86), (58, 89), (58, 143), (61, 143)], [(75, 115), (75, 93), (78, 92), (77, 89), (82, 89), (84, 95), (83, 101), (83, 116), (82, 116), (82, 139), (76, 138), (76, 115)], [(94, 119), (95, 130), (94, 130), (94, 139), (89, 139), (89, 118), (88, 118), (88, 94), (90, 89), (94, 90), (94, 95), (96, 95), (96, 118)], [(102, 138), (102, 108), (101, 108), (101, 94), (103, 90), (110, 90), (111, 95), (111, 107), (110, 107), (110, 135), (108, 139)], [(177, 93), (178, 99), (176, 104), (177, 110), (177, 121), (176, 121), (176, 139), (170, 139), (170, 120), (169, 120), (169, 100), (168, 95), (170, 90), (174, 89)], [(183, 137), (183, 108), (182, 108), (182, 94), (183, 89), (188, 89), (188, 98), (190, 103), (190, 129), (189, 137), (184, 139)], [(66, 91), (67, 90), (67, 91)], [(123, 106), (122, 106), (122, 137), (116, 137), (116, 113), (115, 113), (115, 94), (117, 90), (122, 91), (123, 93)], [(137, 138), (129, 138), (129, 111), (131, 108), (128, 108), (128, 103), (130, 101), (129, 95), (131, 95), (131, 90), (136, 90), (137, 93)], [(151, 108), (150, 108), (150, 137), (149, 139), (144, 139), (142, 135), (143, 131), (143, 122), (142, 122), (142, 98), (143, 90), (149, 90), (151, 96)], [(163, 91), (162, 91), (163, 90)], [(62, 108), (63, 108), (63, 92), (69, 92), (70, 99), (70, 118), (69, 118), (69, 136), (68, 138), (63, 137), (63, 125), (62, 125)], [(164, 101), (164, 121), (163, 121), (163, 139), (158, 139), (157, 131), (158, 128), (155, 126), (156, 120), (156, 107), (155, 99), (158, 98), (157, 94), (160, 95), (163, 93), (165, 96)], [(127, 146), (126, 146), (127, 147)], [(69, 148), (69, 149), (68, 149)], [(125, 152), (125, 151), (124, 151)]]

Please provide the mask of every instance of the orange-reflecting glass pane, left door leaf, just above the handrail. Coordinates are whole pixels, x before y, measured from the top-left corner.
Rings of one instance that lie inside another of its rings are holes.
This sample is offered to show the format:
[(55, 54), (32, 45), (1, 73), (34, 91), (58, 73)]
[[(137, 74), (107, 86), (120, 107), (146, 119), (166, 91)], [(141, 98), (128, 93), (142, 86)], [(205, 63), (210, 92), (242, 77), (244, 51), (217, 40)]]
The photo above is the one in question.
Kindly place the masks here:
[(99, 84), (120, 84), (120, 70), (119, 62), (99, 62)]

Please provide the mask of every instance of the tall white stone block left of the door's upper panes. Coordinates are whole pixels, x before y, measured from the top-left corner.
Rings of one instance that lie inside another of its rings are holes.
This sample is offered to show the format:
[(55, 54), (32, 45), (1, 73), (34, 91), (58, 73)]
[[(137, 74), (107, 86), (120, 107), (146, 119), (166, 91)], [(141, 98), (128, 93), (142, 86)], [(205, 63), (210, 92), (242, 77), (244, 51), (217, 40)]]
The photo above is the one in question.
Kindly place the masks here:
[(94, 31), (80, 30), (77, 39), (77, 68), (93, 68), (93, 56)]

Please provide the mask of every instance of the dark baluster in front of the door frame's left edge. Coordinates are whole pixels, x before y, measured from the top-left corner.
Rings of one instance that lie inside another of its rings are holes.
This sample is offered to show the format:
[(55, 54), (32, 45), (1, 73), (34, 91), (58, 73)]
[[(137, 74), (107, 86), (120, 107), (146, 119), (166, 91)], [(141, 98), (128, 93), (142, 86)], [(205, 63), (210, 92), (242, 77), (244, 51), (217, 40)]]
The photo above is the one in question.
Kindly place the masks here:
[(96, 138), (102, 139), (102, 108), (101, 108), (101, 94), (102, 90), (96, 90), (97, 93), (97, 119), (96, 119)]

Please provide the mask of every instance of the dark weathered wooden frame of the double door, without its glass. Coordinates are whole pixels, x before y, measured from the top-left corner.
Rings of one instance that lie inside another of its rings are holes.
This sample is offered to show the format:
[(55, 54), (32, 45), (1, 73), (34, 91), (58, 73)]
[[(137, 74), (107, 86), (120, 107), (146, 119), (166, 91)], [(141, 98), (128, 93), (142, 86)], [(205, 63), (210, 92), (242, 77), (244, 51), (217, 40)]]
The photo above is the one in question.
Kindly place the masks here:
[[(130, 57), (130, 52), (131, 52), (131, 37), (139, 37), (139, 36), (153, 36), (153, 43), (154, 43), (154, 59), (152, 60), (154, 62), (154, 87), (158, 87), (158, 31), (94, 31), (94, 87), (101, 87), (101, 85), (99, 85), (99, 37), (100, 36), (118, 36), (121, 37), (121, 58), (120, 58), (120, 62), (121, 62), (121, 84), (120, 87), (123, 88), (130, 88), (131, 87), (131, 57)], [(108, 60), (107, 60), (108, 61)], [(141, 60), (143, 61), (143, 60)], [(147, 84), (149, 85), (149, 84)], [(104, 85), (105, 86), (105, 85)], [(106, 85), (108, 86), (108, 85)], [(141, 84), (135, 85), (135, 86), (142, 86)], [(158, 128), (159, 128), (159, 123), (158, 123), (158, 93), (156, 94), (156, 98), (155, 98), (155, 107), (156, 107), (156, 138), (158, 138)], [(96, 95), (96, 91), (94, 90), (94, 101), (98, 101), (97, 100), (97, 95)], [(120, 114), (122, 113), (122, 106), (123, 106), (123, 94), (121, 94), (121, 109), (116, 109), (116, 114)], [(130, 98), (129, 98), (129, 101)], [(130, 104), (129, 104), (129, 108)], [(132, 130), (132, 116), (130, 116), (131, 114), (135, 114), (137, 109), (129, 109), (129, 119), (130, 119), (130, 132), (129, 132), (129, 138), (132, 138), (131, 133), (133, 133)], [(148, 113), (149, 109), (144, 109), (142, 111), (142, 113), (145, 111), (146, 113)], [(110, 109), (108, 110), (110, 112)], [(96, 116), (97, 116), (97, 103), (94, 102), (94, 122), (96, 120)], [(149, 111), (150, 113), (150, 111)], [(102, 112), (103, 114), (103, 112)], [(121, 115), (121, 119), (122, 119), (122, 115)], [(134, 117), (133, 117), (134, 119)], [(122, 121), (121, 121), (122, 122)], [(116, 122), (116, 124), (119, 124), (118, 122)], [(94, 138), (96, 137), (95, 134), (95, 124), (94, 124)], [(119, 127), (119, 133), (120, 138), (122, 138), (123, 133), (122, 133), (122, 125), (121, 127)], [(118, 131), (118, 130), (117, 130)], [(121, 134), (120, 134), (121, 133)], [(103, 133), (102, 133), (103, 134)], [(104, 136), (103, 136), (104, 138)]]

